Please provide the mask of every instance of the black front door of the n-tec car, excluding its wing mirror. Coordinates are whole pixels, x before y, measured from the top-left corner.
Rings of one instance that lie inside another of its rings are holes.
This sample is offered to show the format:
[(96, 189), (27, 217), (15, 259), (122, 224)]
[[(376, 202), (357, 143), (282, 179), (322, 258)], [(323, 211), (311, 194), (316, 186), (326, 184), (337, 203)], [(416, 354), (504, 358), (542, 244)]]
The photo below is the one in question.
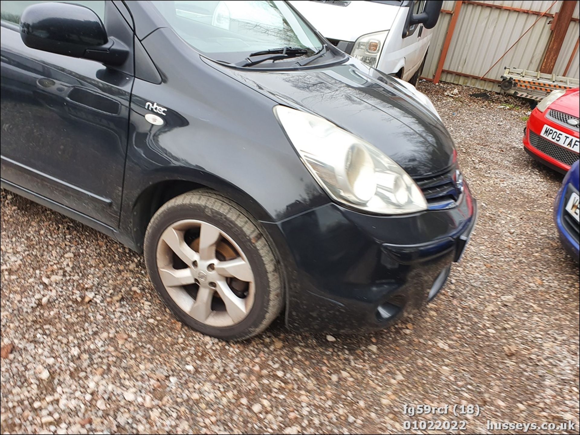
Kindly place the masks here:
[[(39, 2), (2, 1), (0, 5), (2, 181), (116, 228), (133, 56), (113, 69), (27, 47), (18, 23), (33, 3)], [(131, 25), (113, 2), (71, 3), (96, 12), (107, 35), (132, 50)]]

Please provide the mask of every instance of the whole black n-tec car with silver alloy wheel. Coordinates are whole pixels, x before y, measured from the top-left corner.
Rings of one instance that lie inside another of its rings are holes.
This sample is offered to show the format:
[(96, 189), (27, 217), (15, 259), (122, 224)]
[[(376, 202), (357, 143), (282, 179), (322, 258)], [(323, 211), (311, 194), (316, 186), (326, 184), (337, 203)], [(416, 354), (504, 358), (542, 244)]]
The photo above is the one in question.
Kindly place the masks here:
[(476, 201), (429, 99), (288, 3), (2, 1), (1, 18), (2, 187), (143, 251), (195, 330), (247, 338), (282, 311), (382, 328), (461, 257)]

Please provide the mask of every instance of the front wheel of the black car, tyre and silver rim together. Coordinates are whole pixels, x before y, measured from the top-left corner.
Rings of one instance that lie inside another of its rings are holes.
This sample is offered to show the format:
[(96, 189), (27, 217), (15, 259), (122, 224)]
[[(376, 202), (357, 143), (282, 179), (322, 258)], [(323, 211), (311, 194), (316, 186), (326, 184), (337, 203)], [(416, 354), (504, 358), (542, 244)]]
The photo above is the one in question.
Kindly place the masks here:
[(165, 203), (147, 227), (144, 255), (162, 301), (203, 334), (249, 338), (282, 309), (278, 262), (258, 222), (211, 191)]

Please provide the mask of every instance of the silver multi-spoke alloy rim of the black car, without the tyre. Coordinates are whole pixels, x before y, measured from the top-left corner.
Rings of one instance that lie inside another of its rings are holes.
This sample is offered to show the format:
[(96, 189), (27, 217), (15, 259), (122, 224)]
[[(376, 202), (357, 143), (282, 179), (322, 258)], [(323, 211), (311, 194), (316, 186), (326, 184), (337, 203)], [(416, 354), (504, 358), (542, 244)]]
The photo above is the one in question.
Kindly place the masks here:
[[(186, 242), (188, 232), (198, 235), (194, 243)], [(224, 261), (219, 252), (223, 246), (235, 258)], [(183, 267), (176, 268), (176, 261)], [(255, 286), (248, 259), (230, 236), (212, 224), (187, 219), (166, 228), (157, 243), (157, 269), (177, 306), (208, 326), (232, 326), (252, 309)], [(245, 286), (244, 297), (231, 287), (233, 280)]]

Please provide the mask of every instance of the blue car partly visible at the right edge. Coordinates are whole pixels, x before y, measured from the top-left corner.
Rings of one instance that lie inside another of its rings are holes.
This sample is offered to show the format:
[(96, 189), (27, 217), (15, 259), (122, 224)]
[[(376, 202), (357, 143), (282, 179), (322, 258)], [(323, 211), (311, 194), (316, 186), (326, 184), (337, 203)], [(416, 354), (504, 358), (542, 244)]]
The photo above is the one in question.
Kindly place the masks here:
[(558, 226), (560, 240), (564, 248), (579, 261), (578, 241), (580, 240), (580, 170), (578, 160), (562, 182), (562, 187), (554, 203), (554, 221)]

